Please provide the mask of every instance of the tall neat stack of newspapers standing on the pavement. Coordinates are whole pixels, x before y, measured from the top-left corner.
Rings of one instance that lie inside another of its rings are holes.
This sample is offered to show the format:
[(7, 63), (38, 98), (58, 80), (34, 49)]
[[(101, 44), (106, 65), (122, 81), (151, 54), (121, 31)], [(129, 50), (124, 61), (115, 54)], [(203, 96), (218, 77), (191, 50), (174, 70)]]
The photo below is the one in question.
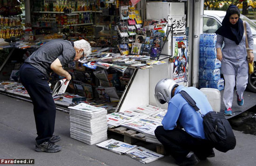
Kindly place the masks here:
[(89, 145), (108, 138), (107, 110), (80, 103), (69, 106), (70, 137)]

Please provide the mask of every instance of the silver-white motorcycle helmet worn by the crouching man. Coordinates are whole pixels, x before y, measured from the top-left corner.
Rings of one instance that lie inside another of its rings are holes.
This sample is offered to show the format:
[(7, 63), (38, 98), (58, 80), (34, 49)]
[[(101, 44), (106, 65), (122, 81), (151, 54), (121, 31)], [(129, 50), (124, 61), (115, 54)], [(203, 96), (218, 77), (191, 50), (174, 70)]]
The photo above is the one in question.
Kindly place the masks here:
[(179, 86), (174, 80), (162, 79), (155, 86), (155, 100), (160, 107), (160, 104), (169, 102), (172, 98), (172, 90)]

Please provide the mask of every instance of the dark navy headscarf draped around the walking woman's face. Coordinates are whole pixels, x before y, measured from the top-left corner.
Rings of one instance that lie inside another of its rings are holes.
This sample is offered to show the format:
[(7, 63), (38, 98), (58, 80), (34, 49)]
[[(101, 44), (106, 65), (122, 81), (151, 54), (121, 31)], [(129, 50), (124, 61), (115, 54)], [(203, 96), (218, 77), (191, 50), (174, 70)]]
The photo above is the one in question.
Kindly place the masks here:
[(225, 38), (228, 38), (230, 40), (233, 40), (236, 42), (237, 45), (239, 45), (240, 41), (243, 38), (244, 28), (243, 28), (243, 20), (240, 19), (240, 11), (239, 11), (239, 19), (236, 22), (235, 25), (231, 24), (229, 21), (229, 17), (231, 15), (230, 9), (236, 7), (235, 5), (230, 5), (227, 13), (222, 20), (222, 26), (216, 31), (217, 34), (222, 35)]

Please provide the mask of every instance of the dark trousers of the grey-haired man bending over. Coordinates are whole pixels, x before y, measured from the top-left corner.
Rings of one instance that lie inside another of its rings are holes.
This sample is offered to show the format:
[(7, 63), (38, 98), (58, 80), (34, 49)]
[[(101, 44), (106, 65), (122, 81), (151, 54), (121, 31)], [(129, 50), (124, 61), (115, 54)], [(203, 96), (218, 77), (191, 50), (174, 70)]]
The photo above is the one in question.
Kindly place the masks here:
[(53, 136), (56, 107), (46, 76), (34, 66), (24, 63), (20, 67), (20, 81), (26, 88), (34, 105), (37, 135), (41, 144)]

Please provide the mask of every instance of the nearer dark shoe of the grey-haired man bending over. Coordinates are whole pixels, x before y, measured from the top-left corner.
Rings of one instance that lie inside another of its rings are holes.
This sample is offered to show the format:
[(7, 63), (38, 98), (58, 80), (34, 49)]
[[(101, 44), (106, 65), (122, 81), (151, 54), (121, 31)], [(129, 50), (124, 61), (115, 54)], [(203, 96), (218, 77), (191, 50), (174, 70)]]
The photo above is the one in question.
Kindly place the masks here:
[(47, 153), (55, 153), (61, 151), (61, 146), (55, 145), (49, 141), (45, 141), (40, 145), (35, 144), (35, 151), (36, 152), (47, 152)]

